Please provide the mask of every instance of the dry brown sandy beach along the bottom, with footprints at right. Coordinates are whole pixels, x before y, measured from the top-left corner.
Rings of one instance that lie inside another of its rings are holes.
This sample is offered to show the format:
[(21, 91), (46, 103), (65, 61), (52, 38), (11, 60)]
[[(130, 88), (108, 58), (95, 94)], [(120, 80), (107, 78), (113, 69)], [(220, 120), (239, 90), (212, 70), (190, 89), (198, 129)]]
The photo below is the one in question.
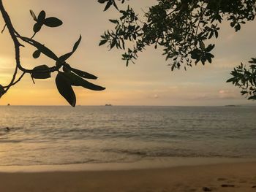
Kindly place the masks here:
[(256, 162), (81, 172), (0, 173), (0, 191), (256, 191)]

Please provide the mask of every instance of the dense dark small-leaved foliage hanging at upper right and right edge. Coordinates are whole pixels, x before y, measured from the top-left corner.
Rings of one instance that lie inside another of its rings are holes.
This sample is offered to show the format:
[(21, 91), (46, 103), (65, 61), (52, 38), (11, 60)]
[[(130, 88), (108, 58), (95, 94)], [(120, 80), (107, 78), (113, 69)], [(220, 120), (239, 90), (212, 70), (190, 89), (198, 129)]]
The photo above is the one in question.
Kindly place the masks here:
[[(124, 3), (125, 0), (118, 0)], [(105, 9), (118, 6), (115, 0), (98, 0)], [(219, 23), (230, 21), (236, 31), (247, 21), (254, 20), (255, 0), (158, 0), (143, 17), (139, 17), (132, 7), (120, 10), (120, 18), (110, 19), (113, 30), (105, 31), (99, 45), (107, 44), (125, 50), (122, 59), (134, 63), (138, 53), (147, 46), (162, 47), (163, 55), (170, 61), (170, 69), (187, 69), (198, 62), (211, 63), (214, 55), (213, 44), (209, 40), (218, 38)], [(132, 47), (126, 47), (132, 42)], [(249, 69), (243, 64), (236, 67), (227, 82), (240, 87), (248, 99), (256, 99), (256, 58), (249, 61)]]

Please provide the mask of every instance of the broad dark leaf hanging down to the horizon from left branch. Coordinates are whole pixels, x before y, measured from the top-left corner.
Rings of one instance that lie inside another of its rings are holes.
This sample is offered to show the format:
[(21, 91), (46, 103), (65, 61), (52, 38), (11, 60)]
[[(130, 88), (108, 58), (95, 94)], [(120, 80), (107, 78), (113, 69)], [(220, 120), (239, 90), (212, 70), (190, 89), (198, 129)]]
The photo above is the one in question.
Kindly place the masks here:
[(61, 96), (63, 96), (72, 107), (75, 107), (76, 97), (69, 79), (63, 72), (59, 72), (56, 76), (55, 82)]

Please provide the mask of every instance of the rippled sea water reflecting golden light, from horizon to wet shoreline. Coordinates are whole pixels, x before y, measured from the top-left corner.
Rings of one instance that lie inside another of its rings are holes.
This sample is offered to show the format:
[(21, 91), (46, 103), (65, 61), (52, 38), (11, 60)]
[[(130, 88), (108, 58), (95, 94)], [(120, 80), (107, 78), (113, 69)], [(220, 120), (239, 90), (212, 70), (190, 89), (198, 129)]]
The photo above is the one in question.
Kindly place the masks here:
[(255, 112), (256, 107), (2, 106), (0, 166), (256, 158)]

